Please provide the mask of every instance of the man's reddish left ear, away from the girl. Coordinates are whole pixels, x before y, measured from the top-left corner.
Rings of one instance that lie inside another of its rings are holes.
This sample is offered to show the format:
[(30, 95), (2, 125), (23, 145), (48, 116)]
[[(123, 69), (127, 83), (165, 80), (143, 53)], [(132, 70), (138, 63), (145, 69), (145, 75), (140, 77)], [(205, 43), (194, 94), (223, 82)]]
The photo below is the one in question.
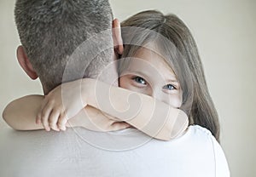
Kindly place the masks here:
[(21, 45), (17, 48), (17, 59), (20, 63), (20, 66), (24, 71), (26, 71), (26, 74), (29, 77), (31, 77), (33, 80), (38, 78), (37, 72), (33, 69), (32, 64), (26, 56), (25, 49)]

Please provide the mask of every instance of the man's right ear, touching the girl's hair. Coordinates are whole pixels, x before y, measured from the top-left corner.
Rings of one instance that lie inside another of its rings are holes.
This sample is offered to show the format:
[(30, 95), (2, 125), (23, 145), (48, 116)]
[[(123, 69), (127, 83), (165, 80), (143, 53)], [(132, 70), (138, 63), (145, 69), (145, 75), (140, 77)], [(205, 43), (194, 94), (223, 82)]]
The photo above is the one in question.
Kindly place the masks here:
[(121, 36), (121, 27), (119, 20), (114, 19), (112, 23), (112, 28), (113, 28), (113, 46), (114, 50), (118, 54), (123, 54), (124, 52), (124, 46), (123, 46), (123, 39)]

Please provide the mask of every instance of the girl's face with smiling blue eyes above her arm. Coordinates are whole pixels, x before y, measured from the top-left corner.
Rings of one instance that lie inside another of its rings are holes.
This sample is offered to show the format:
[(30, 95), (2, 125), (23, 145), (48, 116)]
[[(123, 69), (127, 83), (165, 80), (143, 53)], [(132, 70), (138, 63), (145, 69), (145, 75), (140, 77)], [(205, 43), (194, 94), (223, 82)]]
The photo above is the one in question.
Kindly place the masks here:
[(176, 108), (182, 105), (182, 89), (172, 68), (159, 54), (146, 48), (138, 49), (119, 77), (119, 86), (148, 94)]

